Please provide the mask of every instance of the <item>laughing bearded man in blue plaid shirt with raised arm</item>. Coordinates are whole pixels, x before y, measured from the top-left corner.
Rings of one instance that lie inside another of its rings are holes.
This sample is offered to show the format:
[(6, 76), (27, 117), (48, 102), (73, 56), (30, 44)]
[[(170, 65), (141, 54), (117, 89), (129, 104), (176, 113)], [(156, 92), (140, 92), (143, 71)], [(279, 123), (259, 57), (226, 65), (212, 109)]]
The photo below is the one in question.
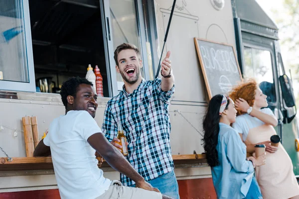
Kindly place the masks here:
[[(128, 161), (146, 181), (164, 195), (179, 199), (170, 149), (169, 99), (174, 93), (170, 51), (161, 63), (161, 79), (146, 81), (141, 76), (139, 49), (123, 43), (114, 52), (116, 70), (124, 80), (123, 91), (109, 100), (102, 130), (117, 148), (117, 122), (121, 122), (128, 145)], [(125, 186), (135, 182), (121, 174)]]

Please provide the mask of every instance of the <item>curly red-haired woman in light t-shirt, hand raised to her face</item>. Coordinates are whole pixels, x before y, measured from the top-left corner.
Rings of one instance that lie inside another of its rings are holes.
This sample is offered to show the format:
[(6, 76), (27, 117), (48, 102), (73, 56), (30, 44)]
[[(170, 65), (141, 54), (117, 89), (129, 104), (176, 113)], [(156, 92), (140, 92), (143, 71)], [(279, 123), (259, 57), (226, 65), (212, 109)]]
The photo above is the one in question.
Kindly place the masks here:
[(233, 88), (229, 97), (237, 109), (233, 128), (247, 146), (247, 153), (254, 153), (256, 144), (265, 144), (266, 165), (256, 168), (256, 177), (264, 199), (299, 199), (299, 186), (293, 173), (293, 164), (283, 145), (272, 146), (270, 137), (276, 134), (278, 120), (268, 106), (255, 80), (243, 82)]

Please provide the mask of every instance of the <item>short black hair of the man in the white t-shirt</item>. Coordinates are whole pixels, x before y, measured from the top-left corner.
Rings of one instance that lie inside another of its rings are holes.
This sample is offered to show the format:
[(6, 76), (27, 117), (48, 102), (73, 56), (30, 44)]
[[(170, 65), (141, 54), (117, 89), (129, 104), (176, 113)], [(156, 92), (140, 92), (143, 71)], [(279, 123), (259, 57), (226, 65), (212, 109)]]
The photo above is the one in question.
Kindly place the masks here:
[(60, 96), (65, 107), (67, 107), (68, 96), (73, 96), (74, 98), (76, 98), (77, 89), (80, 84), (87, 84), (93, 86), (93, 84), (89, 82), (87, 79), (80, 77), (72, 77), (64, 83), (62, 83)]

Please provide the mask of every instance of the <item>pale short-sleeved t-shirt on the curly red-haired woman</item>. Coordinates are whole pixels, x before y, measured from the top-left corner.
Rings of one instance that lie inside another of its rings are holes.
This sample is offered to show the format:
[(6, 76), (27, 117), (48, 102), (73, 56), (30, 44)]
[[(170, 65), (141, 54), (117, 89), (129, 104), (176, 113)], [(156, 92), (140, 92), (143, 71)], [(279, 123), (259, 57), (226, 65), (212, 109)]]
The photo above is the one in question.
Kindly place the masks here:
[[(273, 112), (270, 108), (263, 108), (260, 110), (263, 113), (269, 114), (269, 115), (273, 115)], [(262, 120), (253, 117), (249, 114), (243, 114), (243, 115), (239, 115), (236, 118), (236, 122), (233, 123), (233, 128), (238, 132), (238, 133), (242, 133), (243, 134), (243, 141), (246, 140), (249, 129), (251, 128), (255, 128), (261, 125), (264, 125), (265, 122), (263, 122)]]

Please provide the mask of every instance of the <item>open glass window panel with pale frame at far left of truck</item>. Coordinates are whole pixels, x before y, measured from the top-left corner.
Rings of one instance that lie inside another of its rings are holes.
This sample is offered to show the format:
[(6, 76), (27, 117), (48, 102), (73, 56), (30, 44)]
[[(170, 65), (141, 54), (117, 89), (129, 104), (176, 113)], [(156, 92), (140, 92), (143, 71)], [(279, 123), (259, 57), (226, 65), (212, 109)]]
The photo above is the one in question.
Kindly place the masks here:
[(28, 2), (0, 1), (0, 90), (35, 92)]

